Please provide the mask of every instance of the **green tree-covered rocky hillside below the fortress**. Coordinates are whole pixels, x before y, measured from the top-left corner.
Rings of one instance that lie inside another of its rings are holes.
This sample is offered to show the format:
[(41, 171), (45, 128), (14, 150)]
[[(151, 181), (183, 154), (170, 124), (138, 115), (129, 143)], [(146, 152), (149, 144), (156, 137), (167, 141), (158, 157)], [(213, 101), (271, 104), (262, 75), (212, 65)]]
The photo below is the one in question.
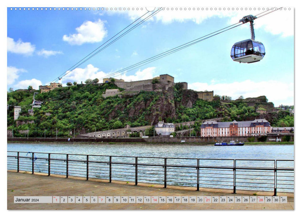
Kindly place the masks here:
[[(90, 79), (91, 80), (91, 79)], [(39, 93), (36, 100), (42, 101), (41, 108), (34, 108), (33, 116), (28, 114), (36, 90), (7, 92), (7, 129), (14, 130), (16, 137), (24, 136), (20, 130), (29, 129), (30, 137), (67, 137), (75, 130), (78, 133), (102, 131), (125, 127), (154, 125), (164, 122), (187, 122), (210, 118), (221, 121), (245, 121), (256, 118), (267, 119), (272, 126), (294, 126), (294, 117), (289, 111), (277, 109), (265, 96), (231, 100), (228, 96), (215, 96), (211, 102), (197, 98), (197, 92), (184, 90), (179, 84), (167, 91), (140, 91), (135, 95), (122, 94), (104, 98), (106, 89), (123, 89), (114, 82), (99, 84), (94, 80), (86, 84), (70, 82), (66, 87)], [(39, 92), (39, 91), (38, 91)], [(14, 106), (21, 106), (18, 121), (14, 121)], [(259, 113), (263, 109), (264, 113)], [(257, 111), (257, 112), (256, 112)], [(33, 122), (32, 122), (33, 121)], [(201, 122), (196, 122), (195, 128)]]

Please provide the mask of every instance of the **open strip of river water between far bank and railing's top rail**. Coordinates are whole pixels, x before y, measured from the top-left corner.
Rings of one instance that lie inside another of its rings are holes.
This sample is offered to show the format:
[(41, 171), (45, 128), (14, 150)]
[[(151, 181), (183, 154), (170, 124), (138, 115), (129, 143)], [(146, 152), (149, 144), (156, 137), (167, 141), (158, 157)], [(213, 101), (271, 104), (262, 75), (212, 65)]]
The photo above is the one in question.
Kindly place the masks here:
[(133, 157), (294, 160), (294, 145), (7, 144), (7, 151)]

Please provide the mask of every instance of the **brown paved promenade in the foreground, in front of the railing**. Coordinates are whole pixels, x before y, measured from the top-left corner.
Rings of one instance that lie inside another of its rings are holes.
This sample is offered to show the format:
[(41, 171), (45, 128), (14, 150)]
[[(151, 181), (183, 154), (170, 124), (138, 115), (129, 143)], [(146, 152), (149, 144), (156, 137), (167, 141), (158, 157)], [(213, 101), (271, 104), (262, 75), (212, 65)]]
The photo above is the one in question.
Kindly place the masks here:
[[(206, 191), (205, 191), (206, 190)], [(64, 178), (60, 175), (30, 174), (29, 172), (7, 171), (8, 210), (294, 210), (293, 194), (287, 196), (287, 203), (14, 203), (14, 196), (252, 196), (255, 192), (218, 189), (200, 189), (162, 185), (117, 182), (108, 183), (99, 179)], [(256, 192), (258, 196), (272, 196), (272, 193)]]

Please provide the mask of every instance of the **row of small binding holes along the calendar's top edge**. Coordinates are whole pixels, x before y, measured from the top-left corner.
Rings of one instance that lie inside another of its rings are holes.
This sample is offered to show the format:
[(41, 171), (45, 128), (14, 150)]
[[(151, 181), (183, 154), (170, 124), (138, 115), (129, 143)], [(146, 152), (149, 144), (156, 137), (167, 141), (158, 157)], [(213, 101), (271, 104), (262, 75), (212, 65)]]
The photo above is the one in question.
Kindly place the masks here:
[[(289, 8), (269, 8), (269, 7), (267, 7), (267, 8), (265, 8), (265, 7), (263, 7), (263, 8), (260, 8), (260, 7), (258, 7), (258, 8), (256, 8), (256, 7), (254, 7), (254, 8), (247, 8), (247, 7), (245, 7), (245, 8), (238, 8), (238, 7), (236, 7), (236, 8), (234, 8), (234, 7), (232, 7), (232, 8), (230, 8), (230, 7), (228, 7), (228, 8), (226, 8), (226, 7), (223, 7), (223, 8), (221, 8), (221, 7), (219, 7), (219, 8), (217, 8), (217, 7), (206, 7), (206, 8), (204, 8), (204, 7), (197, 7), (197, 8), (195, 8), (195, 7), (188, 7), (188, 8), (186, 8), (186, 7), (184, 7), (184, 8), (182, 8), (182, 7), (166, 7), (166, 8), (162, 8), (162, 10), (164, 11), (164, 10), (167, 10), (167, 11), (169, 11), (169, 10), (171, 10), (171, 11), (173, 11), (173, 10), (175, 10), (175, 11), (182, 11), (182, 10), (184, 10), (184, 11), (186, 11), (186, 10), (188, 10), (188, 11), (191, 11), (191, 10), (193, 10), (193, 11), (195, 11), (195, 10), (197, 10), (197, 11), (208, 11), (208, 10), (210, 10), (210, 11), (230, 11), (230, 10), (232, 10), (232, 11), (239, 11), (239, 10), (241, 10), (241, 11), (243, 11), (243, 10), (250, 10), (250, 11), (260, 11), (260, 10), (262, 10), (262, 11), (265, 11), (265, 10), (291, 10), (291, 8), (289, 7)], [(19, 11), (30, 11), (30, 10), (32, 10), (32, 11), (34, 11), (34, 10), (36, 10), (36, 11), (38, 11), (38, 10), (45, 10), (45, 11), (47, 11), (47, 10), (54, 10), (54, 11), (56, 11), (56, 10), (58, 10), (58, 11), (60, 11), (60, 10), (62, 10), (62, 11), (65, 11), (65, 10), (67, 10), (67, 11), (69, 11), (69, 10), (71, 10), (71, 11), (73, 11), (73, 10), (75, 10), (75, 11), (82, 11), (82, 10), (84, 10), (84, 11), (86, 11), (86, 10), (88, 10), (88, 11), (91, 11), (91, 10), (93, 10), (93, 11), (95, 11), (95, 10), (97, 10), (97, 11), (126, 11), (126, 10), (128, 10), (128, 11), (134, 11), (134, 10), (136, 10), (136, 11), (143, 11), (143, 10), (147, 10), (146, 8), (143, 8), (143, 7), (141, 7), (141, 8), (139, 8), (139, 7), (137, 7), (137, 8), (134, 8), (134, 7), (132, 7), (132, 8), (125, 8), (125, 7), (123, 7), (123, 8), (121, 8), (121, 7), (119, 7), (119, 8), (117, 8), (117, 7), (110, 7), (110, 8), (108, 8), (108, 7), (97, 7), (97, 8), (95, 8), (95, 7), (88, 7), (88, 8), (86, 8), (86, 7), (84, 7), (84, 8), (82, 8), (82, 7), (79, 7), (79, 8), (77, 8), (77, 7), (75, 7), (75, 8), (73, 8), (73, 7), (71, 7), (71, 8), (69, 8), (69, 7), (67, 7), (67, 8), (64, 8), (64, 7), (62, 7), (62, 8), (60, 8), (60, 7), (58, 7), (58, 8), (56, 8), (56, 7), (54, 7), (54, 8), (52, 8), (52, 7), (50, 7), (50, 8), (47, 8), (47, 7), (45, 7), (45, 8), (34, 8), (34, 7), (32, 7), (32, 8), (25, 8), (25, 7), (23, 7), (23, 8), (21, 8), (21, 7), (19, 7), (19, 8), (17, 8), (17, 7), (15, 7), (15, 8), (10, 8), (10, 10), (11, 11), (13, 11), (13, 10), (15, 10), (15, 11), (17, 11), (17, 10), (19, 10)], [(160, 9), (159, 9), (160, 10)]]

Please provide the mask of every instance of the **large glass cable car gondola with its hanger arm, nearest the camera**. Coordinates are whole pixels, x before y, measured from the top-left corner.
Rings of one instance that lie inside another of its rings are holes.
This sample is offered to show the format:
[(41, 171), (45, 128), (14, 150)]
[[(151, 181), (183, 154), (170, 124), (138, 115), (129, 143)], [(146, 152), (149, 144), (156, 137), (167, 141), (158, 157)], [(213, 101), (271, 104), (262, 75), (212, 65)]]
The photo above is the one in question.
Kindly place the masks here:
[(231, 49), (232, 60), (239, 63), (255, 63), (263, 59), (265, 49), (261, 42), (255, 41), (253, 22), (256, 16), (244, 16), (239, 22), (250, 22), (251, 39), (236, 42)]

